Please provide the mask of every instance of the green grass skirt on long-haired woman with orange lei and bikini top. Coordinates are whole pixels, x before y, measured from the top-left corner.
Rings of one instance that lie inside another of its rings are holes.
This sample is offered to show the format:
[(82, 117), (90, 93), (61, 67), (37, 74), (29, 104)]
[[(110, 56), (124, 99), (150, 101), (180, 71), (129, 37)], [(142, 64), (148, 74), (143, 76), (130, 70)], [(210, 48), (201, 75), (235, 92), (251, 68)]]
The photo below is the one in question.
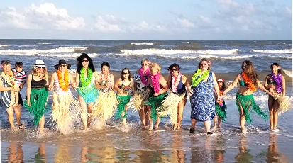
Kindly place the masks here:
[(256, 105), (255, 100), (253, 98), (253, 94), (245, 95), (245, 96), (242, 94), (239, 94), (239, 93), (236, 94), (236, 105), (237, 105), (238, 111), (240, 113), (240, 106), (239, 106), (238, 101), (241, 103), (241, 106), (242, 106), (243, 111), (245, 113), (245, 120), (248, 123), (253, 122), (253, 120), (251, 120), (251, 118), (250, 118), (250, 113), (248, 113), (250, 106), (253, 106), (253, 111), (255, 111), (255, 113), (258, 113), (258, 115), (260, 115), (265, 120), (267, 119), (268, 116), (264, 113), (264, 111), (262, 111), (260, 109), (260, 107), (258, 107)]

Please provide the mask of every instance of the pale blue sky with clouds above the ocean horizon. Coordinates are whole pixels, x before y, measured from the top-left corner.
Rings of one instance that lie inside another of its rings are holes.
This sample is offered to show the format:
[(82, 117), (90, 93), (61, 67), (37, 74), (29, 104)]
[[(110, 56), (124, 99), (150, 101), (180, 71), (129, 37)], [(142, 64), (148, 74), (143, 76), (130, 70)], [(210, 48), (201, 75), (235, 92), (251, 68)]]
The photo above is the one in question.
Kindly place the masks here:
[(9, 0), (0, 20), (0, 38), (292, 40), (289, 0)]

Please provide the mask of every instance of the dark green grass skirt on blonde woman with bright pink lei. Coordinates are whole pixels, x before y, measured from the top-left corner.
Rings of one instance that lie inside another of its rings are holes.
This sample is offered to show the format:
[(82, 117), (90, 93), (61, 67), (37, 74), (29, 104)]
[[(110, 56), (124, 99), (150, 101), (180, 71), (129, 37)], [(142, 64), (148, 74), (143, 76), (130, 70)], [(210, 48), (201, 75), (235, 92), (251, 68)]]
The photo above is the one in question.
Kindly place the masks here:
[(157, 120), (158, 113), (160, 112), (160, 110), (158, 110), (157, 108), (159, 108), (162, 105), (162, 101), (164, 101), (166, 97), (167, 92), (165, 92), (164, 94), (160, 94), (159, 96), (153, 96), (153, 94), (150, 94), (150, 96), (148, 96), (148, 102), (145, 102), (145, 104), (151, 106), (150, 118), (152, 120)]

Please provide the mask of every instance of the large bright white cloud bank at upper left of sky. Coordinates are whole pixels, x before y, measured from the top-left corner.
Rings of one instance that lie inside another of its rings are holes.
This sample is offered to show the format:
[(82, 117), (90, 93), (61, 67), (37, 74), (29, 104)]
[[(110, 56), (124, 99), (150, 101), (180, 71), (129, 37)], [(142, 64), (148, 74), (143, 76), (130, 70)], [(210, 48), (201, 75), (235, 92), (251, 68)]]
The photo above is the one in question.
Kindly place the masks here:
[(1, 11), (0, 28), (82, 30), (84, 18), (71, 18), (66, 9), (57, 9), (52, 3), (31, 6), (24, 10), (11, 7)]

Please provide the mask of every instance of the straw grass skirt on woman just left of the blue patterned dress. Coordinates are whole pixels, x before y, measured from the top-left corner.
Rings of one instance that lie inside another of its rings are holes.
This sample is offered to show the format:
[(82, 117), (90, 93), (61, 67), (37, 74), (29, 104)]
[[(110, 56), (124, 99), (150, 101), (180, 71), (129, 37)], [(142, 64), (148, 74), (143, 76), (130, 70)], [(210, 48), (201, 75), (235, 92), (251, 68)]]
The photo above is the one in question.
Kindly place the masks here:
[(162, 101), (162, 106), (157, 108), (160, 112), (158, 113), (159, 117), (164, 117), (170, 114), (170, 122), (172, 124), (177, 123), (178, 118), (178, 103), (184, 99), (185, 94), (174, 94), (170, 91), (170, 94)]

